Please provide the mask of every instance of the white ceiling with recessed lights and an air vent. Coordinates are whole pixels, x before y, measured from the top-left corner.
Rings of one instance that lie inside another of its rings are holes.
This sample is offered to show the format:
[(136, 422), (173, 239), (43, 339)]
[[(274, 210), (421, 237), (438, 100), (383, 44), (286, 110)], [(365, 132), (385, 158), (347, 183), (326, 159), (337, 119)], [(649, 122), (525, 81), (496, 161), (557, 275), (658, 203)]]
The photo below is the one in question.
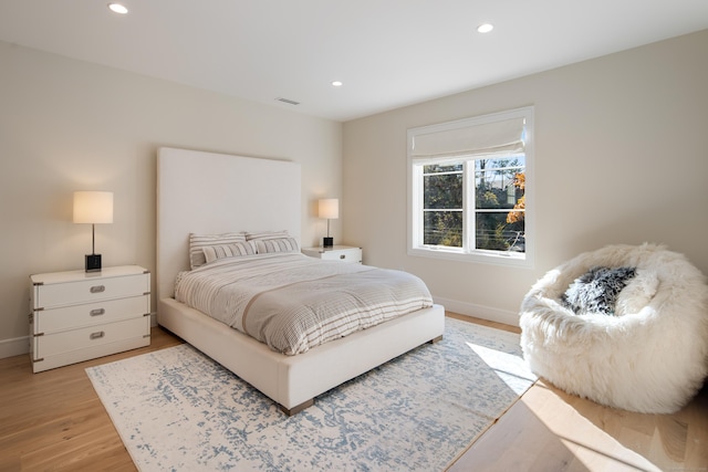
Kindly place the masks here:
[(708, 28), (708, 0), (107, 2), (0, 0), (0, 40), (345, 122)]

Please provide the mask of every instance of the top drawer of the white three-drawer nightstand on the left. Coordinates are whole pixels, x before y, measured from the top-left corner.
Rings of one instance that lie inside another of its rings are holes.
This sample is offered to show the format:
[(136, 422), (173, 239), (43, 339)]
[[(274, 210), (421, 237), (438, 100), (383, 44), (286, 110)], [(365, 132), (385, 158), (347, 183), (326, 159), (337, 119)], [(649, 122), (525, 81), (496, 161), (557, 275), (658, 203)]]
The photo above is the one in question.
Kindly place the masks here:
[(46, 310), (56, 306), (144, 295), (149, 291), (149, 274), (96, 277), (94, 280), (34, 285), (33, 308)]

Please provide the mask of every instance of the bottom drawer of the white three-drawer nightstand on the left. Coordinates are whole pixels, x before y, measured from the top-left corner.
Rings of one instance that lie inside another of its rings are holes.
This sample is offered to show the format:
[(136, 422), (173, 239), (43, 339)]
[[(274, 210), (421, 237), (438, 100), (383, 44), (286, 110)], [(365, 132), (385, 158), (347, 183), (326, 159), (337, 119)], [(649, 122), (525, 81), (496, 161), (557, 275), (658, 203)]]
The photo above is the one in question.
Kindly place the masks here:
[(34, 336), (35, 360), (65, 354), (72, 350), (91, 349), (129, 338), (147, 337), (150, 334), (149, 316), (106, 323), (67, 332)]

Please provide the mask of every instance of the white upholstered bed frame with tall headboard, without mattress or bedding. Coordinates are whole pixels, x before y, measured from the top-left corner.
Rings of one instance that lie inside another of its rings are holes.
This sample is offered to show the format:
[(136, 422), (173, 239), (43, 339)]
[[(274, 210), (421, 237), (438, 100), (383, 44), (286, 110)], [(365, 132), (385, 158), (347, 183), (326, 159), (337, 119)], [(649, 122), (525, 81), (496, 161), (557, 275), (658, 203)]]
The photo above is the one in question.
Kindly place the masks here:
[[(190, 269), (189, 234), (287, 231), (300, 243), (296, 162), (160, 148), (157, 159), (157, 322), (294, 415), (314, 398), (394, 357), (441, 338), (440, 305), (285, 355), (175, 300)], [(303, 258), (305, 258), (303, 255)]]

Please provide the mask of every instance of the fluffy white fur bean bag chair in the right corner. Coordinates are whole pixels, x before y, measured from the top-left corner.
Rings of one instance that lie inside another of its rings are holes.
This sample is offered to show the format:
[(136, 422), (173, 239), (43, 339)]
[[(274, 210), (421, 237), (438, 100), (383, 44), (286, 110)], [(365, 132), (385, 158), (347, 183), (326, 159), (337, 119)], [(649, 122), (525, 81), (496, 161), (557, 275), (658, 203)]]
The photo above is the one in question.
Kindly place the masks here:
[(553, 269), (520, 326), (537, 375), (605, 406), (675, 412), (708, 376), (706, 277), (664, 247), (610, 245)]

